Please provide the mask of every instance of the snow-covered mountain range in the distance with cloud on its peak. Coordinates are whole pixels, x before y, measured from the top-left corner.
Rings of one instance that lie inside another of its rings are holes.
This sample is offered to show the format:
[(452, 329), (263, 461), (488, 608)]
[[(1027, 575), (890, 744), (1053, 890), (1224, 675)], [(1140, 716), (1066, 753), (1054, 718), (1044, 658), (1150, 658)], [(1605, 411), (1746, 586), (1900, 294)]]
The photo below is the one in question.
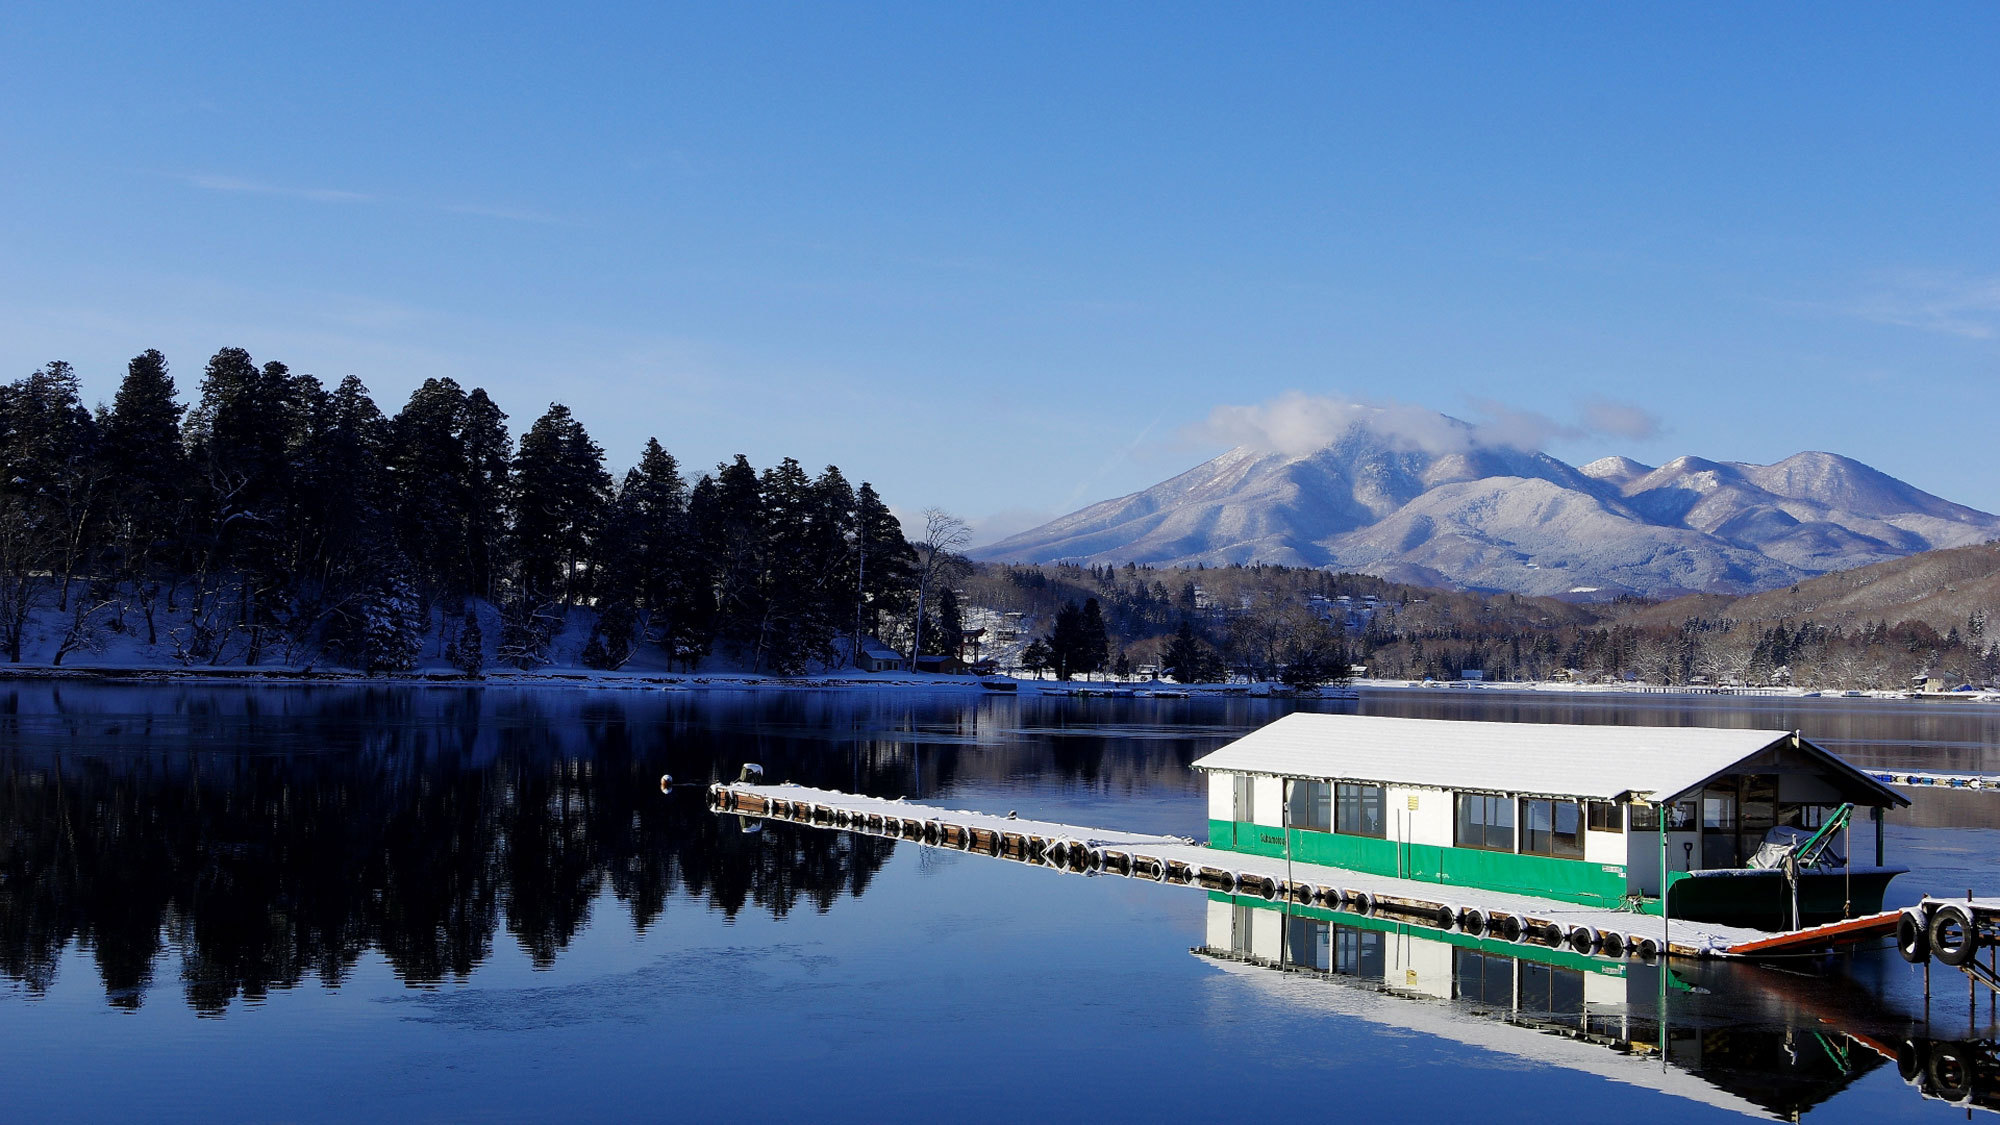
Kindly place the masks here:
[(1832, 452), (1776, 464), (1584, 466), (1360, 416), (1298, 452), (1238, 446), (972, 554), (1016, 562), (1274, 562), (1524, 595), (1752, 593), (2000, 536), (2000, 516)]

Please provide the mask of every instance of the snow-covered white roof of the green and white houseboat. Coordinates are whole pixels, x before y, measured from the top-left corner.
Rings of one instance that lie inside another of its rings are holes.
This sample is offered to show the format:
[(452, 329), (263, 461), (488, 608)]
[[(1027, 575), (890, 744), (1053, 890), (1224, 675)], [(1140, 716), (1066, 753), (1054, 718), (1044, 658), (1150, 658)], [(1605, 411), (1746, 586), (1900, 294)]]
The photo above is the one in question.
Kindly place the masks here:
[[(1198, 759), (1194, 769), (1436, 789), (1668, 801), (1766, 751), (1790, 731), (1562, 727), (1296, 713)], [(1908, 805), (1836, 755), (1798, 739), (1856, 803)]]

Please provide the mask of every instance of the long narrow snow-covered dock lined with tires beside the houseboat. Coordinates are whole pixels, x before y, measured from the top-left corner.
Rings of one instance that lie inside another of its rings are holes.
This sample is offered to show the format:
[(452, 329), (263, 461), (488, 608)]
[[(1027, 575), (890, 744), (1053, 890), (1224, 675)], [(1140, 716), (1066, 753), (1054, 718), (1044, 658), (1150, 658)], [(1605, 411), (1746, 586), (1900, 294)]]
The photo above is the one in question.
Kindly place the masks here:
[[(708, 801), (722, 813), (906, 839), (1078, 875), (1124, 875), (1326, 911), (1392, 913), (1400, 921), (1436, 929), (1488, 933), (1596, 957), (1650, 957), (1662, 939), (1656, 915), (1286, 863), (1282, 857), (1202, 847), (1188, 837), (1024, 821), (802, 785), (714, 785)], [(1674, 957), (1726, 957), (1734, 947), (1766, 943), (1776, 935), (1674, 919), (1666, 937), (1666, 951)]]

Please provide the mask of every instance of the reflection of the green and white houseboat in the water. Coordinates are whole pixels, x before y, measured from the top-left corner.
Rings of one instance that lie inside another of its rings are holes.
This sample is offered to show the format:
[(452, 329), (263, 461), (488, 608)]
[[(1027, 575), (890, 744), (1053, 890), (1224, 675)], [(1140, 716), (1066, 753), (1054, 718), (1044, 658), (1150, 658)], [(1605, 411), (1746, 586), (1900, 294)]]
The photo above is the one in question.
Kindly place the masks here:
[[(1754, 965), (1658, 965), (1210, 895), (1196, 949), (1302, 1009), (1470, 1043), (1740, 1113), (1796, 1121), (1884, 1065), (1884, 997)], [(1282, 969), (1290, 977), (1276, 971)], [(1296, 975), (1346, 989), (1302, 989)], [(1430, 1003), (1424, 1003), (1430, 1001)], [(1662, 1019), (1664, 1011), (1664, 1019)], [(1666, 1067), (1660, 1065), (1662, 1029)], [(1990, 1049), (1988, 1049), (1990, 1055)], [(2000, 1075), (1988, 1075), (1996, 1079)], [(1988, 1081), (1984, 1097), (2000, 1095)]]

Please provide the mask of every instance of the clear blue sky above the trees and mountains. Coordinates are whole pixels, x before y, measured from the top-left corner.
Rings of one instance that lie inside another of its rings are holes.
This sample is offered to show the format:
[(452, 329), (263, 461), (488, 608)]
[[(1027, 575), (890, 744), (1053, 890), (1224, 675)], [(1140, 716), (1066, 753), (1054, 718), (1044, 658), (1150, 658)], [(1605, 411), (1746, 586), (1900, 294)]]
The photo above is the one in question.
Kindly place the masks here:
[(1994, 4), (0, 6), (0, 374), (244, 346), (982, 538), (1286, 392), (2000, 510)]

